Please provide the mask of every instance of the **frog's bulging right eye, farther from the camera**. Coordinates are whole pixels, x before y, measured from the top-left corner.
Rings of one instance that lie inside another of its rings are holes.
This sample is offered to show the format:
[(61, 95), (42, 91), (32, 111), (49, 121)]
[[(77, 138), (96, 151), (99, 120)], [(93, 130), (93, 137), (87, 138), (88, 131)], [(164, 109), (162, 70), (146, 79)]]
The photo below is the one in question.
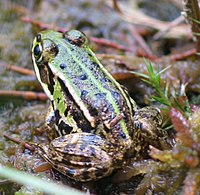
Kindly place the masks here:
[(76, 45), (78, 47), (81, 47), (85, 44), (87, 44), (88, 39), (85, 36), (84, 33), (78, 31), (78, 30), (70, 30), (63, 34), (64, 38), (67, 39), (72, 45)]

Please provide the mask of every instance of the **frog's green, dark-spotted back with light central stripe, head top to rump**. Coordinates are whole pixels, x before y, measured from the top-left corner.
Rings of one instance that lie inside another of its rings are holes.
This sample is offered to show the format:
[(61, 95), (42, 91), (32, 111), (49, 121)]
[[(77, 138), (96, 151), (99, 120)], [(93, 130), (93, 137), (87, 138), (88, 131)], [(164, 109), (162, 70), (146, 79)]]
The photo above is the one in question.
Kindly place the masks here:
[[(86, 40), (80, 44), (74, 37), (55, 35), (59, 52), (50, 61), (51, 70), (54, 75), (59, 73), (62, 90), (70, 95), (68, 105), (73, 104), (74, 114), (79, 116), (77, 123), (84, 117), (85, 121), (81, 123), (87, 124), (85, 129), (90, 126), (101, 136), (110, 134), (116, 139), (129, 139), (133, 113), (127, 94), (101, 65)], [(80, 36), (87, 39), (82, 34)]]

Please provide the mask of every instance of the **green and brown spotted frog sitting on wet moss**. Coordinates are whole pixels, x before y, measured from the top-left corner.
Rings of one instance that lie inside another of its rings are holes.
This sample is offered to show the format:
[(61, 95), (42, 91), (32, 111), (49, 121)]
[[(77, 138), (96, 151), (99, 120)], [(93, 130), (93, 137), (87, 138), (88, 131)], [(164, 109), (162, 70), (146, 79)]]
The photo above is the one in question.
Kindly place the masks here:
[(148, 146), (168, 147), (157, 108), (139, 109), (99, 62), (80, 31), (43, 31), (32, 47), (37, 79), (51, 101), (51, 142), (39, 154), (62, 174), (98, 180), (140, 159)]

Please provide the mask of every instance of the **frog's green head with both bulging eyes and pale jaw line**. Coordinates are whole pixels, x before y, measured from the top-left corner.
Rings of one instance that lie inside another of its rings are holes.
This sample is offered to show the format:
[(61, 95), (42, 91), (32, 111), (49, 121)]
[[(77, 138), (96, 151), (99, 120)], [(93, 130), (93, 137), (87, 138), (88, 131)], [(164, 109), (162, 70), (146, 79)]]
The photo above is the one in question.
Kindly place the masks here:
[(77, 50), (87, 48), (88, 39), (80, 31), (71, 30), (65, 33), (52, 30), (42, 31), (35, 37), (32, 45), (32, 59), (38, 81), (47, 96), (52, 94), (57, 78), (66, 80), (63, 69)]

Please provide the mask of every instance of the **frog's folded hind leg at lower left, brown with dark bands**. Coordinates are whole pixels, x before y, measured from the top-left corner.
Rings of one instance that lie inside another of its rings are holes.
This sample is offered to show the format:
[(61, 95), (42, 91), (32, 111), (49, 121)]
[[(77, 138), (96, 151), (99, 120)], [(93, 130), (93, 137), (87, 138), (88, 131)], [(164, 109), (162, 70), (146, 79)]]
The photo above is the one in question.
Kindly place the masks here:
[(44, 158), (59, 172), (78, 181), (100, 179), (113, 171), (109, 143), (92, 133), (54, 139)]

